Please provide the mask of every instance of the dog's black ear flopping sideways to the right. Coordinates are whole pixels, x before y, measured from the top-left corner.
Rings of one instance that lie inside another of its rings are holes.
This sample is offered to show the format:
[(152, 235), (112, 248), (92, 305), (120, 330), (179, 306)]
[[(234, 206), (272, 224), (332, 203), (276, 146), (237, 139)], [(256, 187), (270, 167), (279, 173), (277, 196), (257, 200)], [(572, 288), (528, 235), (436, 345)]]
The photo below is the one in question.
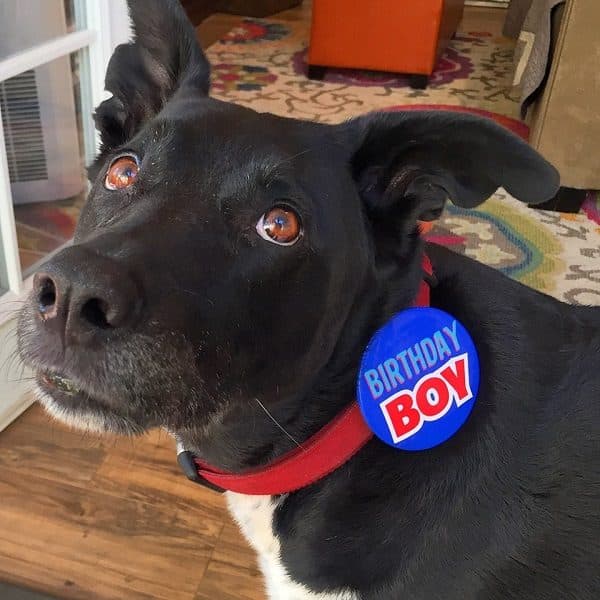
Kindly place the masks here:
[(489, 119), (406, 111), (372, 113), (339, 127), (367, 212), (396, 230), (437, 218), (447, 199), (471, 208), (504, 187), (539, 203), (558, 190), (556, 169)]

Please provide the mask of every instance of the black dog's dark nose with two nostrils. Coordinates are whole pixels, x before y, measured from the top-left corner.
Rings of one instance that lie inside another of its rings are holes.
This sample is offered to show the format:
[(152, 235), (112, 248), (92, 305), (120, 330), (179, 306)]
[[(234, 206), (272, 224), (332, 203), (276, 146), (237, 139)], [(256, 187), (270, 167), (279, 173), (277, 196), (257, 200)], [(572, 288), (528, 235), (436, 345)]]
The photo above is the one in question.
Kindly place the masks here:
[(100, 331), (131, 324), (140, 293), (115, 260), (82, 246), (57, 254), (33, 280), (35, 310), (65, 343), (83, 344)]

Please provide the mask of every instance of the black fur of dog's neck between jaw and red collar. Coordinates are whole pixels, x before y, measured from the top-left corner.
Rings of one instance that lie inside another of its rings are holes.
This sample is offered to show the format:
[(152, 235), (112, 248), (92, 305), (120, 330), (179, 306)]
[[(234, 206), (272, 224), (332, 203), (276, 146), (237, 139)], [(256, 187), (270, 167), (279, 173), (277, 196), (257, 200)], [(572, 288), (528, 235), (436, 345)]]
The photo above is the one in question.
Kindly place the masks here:
[(256, 399), (230, 411), (206, 430), (187, 429), (178, 441), (202, 460), (231, 472), (265, 465), (306, 441), (355, 399), (360, 359), (370, 337), (393, 314), (410, 306), (421, 281), (421, 244), (410, 260), (396, 264), (397, 276), (365, 281), (335, 351), (308, 390), (265, 406)]

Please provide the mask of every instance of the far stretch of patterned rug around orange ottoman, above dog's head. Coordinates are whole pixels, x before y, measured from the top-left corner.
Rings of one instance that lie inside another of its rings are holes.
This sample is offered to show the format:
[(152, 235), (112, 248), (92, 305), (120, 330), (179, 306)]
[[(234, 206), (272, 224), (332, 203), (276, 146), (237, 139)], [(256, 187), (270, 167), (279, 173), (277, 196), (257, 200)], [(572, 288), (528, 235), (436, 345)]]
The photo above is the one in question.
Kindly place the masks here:
[(485, 31), (459, 31), (425, 90), (402, 75), (329, 69), (306, 78), (308, 20), (244, 19), (210, 47), (214, 95), (261, 111), (337, 122), (394, 104), (451, 104), (517, 118), (511, 87), (514, 42)]

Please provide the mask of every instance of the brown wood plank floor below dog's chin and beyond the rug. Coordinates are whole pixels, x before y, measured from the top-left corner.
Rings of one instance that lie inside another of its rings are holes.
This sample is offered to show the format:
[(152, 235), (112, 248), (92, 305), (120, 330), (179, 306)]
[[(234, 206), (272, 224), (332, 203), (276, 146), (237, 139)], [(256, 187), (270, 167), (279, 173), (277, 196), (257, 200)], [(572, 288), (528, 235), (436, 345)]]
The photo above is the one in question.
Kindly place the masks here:
[[(306, 2), (278, 18), (309, 10)], [(499, 29), (499, 12), (465, 18), (474, 30)], [(203, 45), (239, 19), (209, 17)], [(0, 434), (0, 581), (78, 600), (265, 597), (222, 497), (184, 478), (166, 435), (82, 436), (37, 406)]]

